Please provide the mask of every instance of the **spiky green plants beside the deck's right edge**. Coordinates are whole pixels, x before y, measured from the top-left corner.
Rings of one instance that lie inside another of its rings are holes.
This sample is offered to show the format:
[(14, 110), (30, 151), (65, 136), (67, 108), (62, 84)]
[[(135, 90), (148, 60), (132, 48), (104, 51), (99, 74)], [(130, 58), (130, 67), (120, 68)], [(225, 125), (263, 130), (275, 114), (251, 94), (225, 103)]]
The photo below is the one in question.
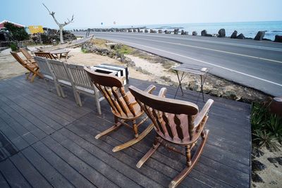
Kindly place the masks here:
[(269, 104), (252, 103), (252, 143), (274, 151), (282, 142), (282, 118), (269, 111)]

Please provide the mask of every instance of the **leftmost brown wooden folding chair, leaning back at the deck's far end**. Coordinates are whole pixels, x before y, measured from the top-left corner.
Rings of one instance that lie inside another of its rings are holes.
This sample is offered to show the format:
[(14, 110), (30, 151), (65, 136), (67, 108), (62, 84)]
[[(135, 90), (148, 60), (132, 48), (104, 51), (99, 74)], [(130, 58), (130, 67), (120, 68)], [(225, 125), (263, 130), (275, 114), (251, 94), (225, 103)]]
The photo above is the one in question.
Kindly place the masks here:
[(10, 53), (14, 58), (16, 58), (16, 61), (18, 61), (20, 65), (23, 65), (23, 67), (29, 71), (26, 74), (26, 80), (30, 80), (30, 82), (33, 82), (36, 76), (42, 77), (42, 75), (39, 73), (39, 67), (37, 66), (37, 63), (27, 63), (23, 61), (23, 59), (20, 58), (20, 56), (18, 56), (16, 52), (10, 51)]

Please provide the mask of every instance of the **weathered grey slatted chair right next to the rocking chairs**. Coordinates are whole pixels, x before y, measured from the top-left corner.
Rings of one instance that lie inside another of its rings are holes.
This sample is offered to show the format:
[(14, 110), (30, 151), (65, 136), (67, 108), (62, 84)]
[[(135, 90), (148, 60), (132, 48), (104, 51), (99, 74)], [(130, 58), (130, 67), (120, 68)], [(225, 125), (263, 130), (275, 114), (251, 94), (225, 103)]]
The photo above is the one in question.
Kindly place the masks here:
[(89, 75), (84, 70), (84, 66), (72, 65), (68, 63), (65, 63), (65, 65), (69, 71), (69, 75), (71, 76), (76, 99), (78, 99), (78, 105), (82, 106), (80, 93), (87, 94), (88, 96), (93, 96), (96, 102), (97, 111), (101, 115), (102, 111), (100, 101), (102, 101), (104, 97), (99, 97), (99, 91), (97, 87), (95, 87), (94, 84), (91, 82)]

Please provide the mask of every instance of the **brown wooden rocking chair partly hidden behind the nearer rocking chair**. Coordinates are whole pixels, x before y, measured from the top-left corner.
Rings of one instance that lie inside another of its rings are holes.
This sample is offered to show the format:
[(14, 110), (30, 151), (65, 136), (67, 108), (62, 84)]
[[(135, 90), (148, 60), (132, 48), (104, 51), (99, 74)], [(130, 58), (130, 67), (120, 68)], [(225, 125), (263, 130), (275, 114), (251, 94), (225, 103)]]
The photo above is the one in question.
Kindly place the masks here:
[[(143, 139), (153, 129), (154, 125), (151, 124), (142, 133), (138, 133), (139, 125), (144, 123), (145, 120), (147, 120), (147, 117), (140, 120), (139, 123), (136, 123), (136, 120), (144, 114), (144, 111), (142, 111), (142, 108), (140, 108), (130, 92), (125, 93), (122, 80), (114, 75), (96, 73), (89, 68), (85, 68), (85, 70), (94, 85), (99, 89), (101, 94), (104, 95), (104, 98), (111, 106), (112, 113), (114, 113), (114, 126), (97, 134), (95, 138), (99, 139), (99, 137), (118, 129), (121, 125), (125, 125), (126, 127), (133, 129), (135, 138), (131, 139), (129, 142), (114, 147), (114, 152), (132, 146)], [(154, 85), (150, 85), (145, 89), (145, 93), (151, 93), (155, 88)], [(126, 123), (128, 121), (131, 121), (132, 125)]]

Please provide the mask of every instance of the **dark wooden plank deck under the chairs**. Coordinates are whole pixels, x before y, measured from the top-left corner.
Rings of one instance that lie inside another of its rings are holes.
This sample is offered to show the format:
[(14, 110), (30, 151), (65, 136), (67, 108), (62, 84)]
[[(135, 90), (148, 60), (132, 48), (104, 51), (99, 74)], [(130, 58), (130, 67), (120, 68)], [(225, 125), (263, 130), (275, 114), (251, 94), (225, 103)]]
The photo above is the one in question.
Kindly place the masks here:
[[(145, 89), (150, 83), (131, 79), (130, 84)], [(157, 84), (156, 91), (160, 88)], [(82, 95), (80, 108), (72, 90), (64, 90), (66, 99), (47, 91), (42, 79), (30, 83), (20, 76), (0, 82), (0, 187), (167, 187), (185, 167), (184, 156), (160, 147), (137, 169), (155, 133), (113, 153), (132, 132), (121, 127), (94, 139), (114, 122), (108, 104), (102, 101), (103, 114), (97, 115), (94, 99)], [(167, 97), (175, 92), (168, 87)], [(196, 102), (197, 96), (185, 91), (177, 99)], [(209, 139), (179, 187), (250, 187), (250, 105), (205, 97), (215, 101), (207, 123)]]

